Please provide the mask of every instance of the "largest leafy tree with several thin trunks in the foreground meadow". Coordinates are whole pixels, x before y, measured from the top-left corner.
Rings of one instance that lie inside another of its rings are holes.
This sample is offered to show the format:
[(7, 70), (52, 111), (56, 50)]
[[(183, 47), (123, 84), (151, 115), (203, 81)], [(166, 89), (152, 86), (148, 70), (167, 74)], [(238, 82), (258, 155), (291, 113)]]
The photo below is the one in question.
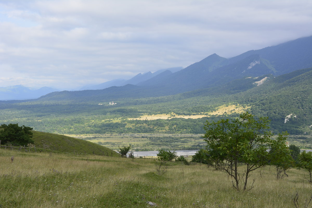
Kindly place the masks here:
[[(204, 129), (208, 152), (212, 159), (219, 161), (218, 168), (233, 178), (232, 185), (237, 191), (241, 190), (242, 182), (243, 191), (246, 190), (252, 171), (289, 154), (287, 133), (272, 139), (268, 118), (255, 119), (248, 112), (241, 114), (239, 119), (207, 121)], [(239, 169), (239, 163), (245, 163), (244, 168)], [(255, 179), (248, 190), (253, 188), (254, 182)]]

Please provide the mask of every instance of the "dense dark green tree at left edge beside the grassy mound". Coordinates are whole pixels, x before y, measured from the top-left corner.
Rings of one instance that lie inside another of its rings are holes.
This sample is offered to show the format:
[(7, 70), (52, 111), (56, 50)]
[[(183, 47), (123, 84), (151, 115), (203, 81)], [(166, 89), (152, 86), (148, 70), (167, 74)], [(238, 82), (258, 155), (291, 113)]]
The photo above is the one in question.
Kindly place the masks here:
[(0, 140), (3, 143), (27, 146), (34, 143), (31, 130), (32, 128), (28, 126), (18, 126), (18, 123), (2, 124), (0, 126)]

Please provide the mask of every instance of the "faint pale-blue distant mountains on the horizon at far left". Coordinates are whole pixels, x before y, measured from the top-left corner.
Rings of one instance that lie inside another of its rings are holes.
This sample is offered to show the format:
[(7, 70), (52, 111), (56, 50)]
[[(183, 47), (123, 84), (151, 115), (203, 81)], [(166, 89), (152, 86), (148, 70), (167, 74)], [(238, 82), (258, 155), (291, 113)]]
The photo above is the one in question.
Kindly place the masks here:
[(14, 85), (8, 87), (0, 87), (0, 100), (25, 100), (36, 99), (42, 95), (60, 91), (51, 87), (41, 87), (40, 89), (32, 89), (23, 85)]

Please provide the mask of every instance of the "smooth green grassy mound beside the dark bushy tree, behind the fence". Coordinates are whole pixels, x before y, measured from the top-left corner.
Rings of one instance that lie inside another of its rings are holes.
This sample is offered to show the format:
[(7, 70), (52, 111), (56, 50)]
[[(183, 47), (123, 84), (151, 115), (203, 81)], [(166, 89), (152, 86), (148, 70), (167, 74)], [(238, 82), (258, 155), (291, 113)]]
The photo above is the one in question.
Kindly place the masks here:
[[(53, 152), (70, 152), (73, 153), (86, 153), (92, 154), (93, 152), (97, 155), (111, 154), (111, 149), (103, 147), (101, 145), (88, 142), (85, 140), (72, 138), (64, 135), (45, 133), (32, 131), (33, 140), (35, 141), (36, 148), (49, 149)], [(113, 151), (113, 156), (118, 157), (118, 153)]]

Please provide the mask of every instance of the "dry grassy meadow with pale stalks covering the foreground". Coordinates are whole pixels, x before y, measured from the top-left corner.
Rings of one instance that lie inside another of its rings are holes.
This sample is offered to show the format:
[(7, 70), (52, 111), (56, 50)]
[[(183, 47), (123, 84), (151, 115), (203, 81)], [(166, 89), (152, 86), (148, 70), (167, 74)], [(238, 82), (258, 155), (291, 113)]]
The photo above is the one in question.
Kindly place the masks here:
[[(14, 155), (14, 161), (11, 157)], [(149, 207), (301, 207), (312, 186), (304, 170), (291, 169), (277, 180), (273, 167), (253, 172), (255, 187), (237, 192), (226, 173), (206, 165), (168, 162), (158, 176), (156, 161), (97, 155), (18, 152), (0, 149), (1, 208)], [(250, 185), (250, 184), (249, 184)], [(311, 205), (310, 205), (311, 206)]]

